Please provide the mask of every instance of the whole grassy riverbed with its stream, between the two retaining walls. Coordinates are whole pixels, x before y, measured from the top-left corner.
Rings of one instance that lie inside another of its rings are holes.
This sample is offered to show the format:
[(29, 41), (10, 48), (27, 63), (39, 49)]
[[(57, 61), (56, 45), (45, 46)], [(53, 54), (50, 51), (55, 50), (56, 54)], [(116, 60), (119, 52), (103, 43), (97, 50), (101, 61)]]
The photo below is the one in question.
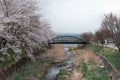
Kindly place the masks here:
[(54, 45), (26, 63), (10, 80), (111, 80), (91, 50)]

